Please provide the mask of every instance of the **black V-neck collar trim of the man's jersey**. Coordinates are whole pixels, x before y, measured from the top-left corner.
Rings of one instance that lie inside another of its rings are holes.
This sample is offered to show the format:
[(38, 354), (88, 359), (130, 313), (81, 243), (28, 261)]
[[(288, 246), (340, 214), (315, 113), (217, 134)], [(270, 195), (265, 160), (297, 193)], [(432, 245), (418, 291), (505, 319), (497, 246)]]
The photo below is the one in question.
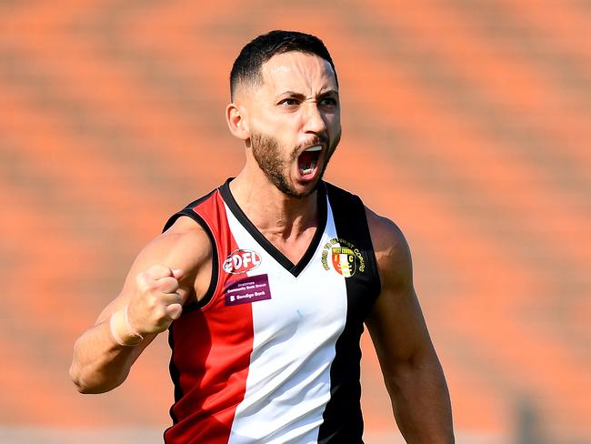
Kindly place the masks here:
[(245, 212), (242, 211), (242, 208), (238, 207), (238, 204), (235, 201), (234, 196), (232, 196), (232, 192), (230, 191), (230, 182), (234, 177), (230, 177), (225, 181), (225, 184), (219, 187), (220, 193), (224, 198), (225, 204), (230, 208), (232, 214), (238, 219), (238, 222), (245, 227), (246, 231), (255, 238), (255, 241), (258, 244), (265, 248), (265, 251), (271, 255), (271, 257), (275, 258), (277, 263), (279, 263), (282, 267), (284, 267), (288, 272), (294, 275), (295, 278), (306, 268), (314, 253), (316, 252), (316, 248), (320, 244), (320, 239), (322, 238), (323, 233), (325, 232), (326, 228), (326, 185), (324, 182), (320, 182), (318, 187), (316, 188), (316, 202), (318, 205), (318, 227), (316, 227), (316, 233), (310, 242), (310, 245), (306, 249), (306, 253), (304, 256), (299, 260), (297, 264), (294, 264), (291, 260), (289, 260), (285, 255), (277, 249), (269, 240), (263, 236), (255, 224), (253, 224), (248, 217), (246, 217)]

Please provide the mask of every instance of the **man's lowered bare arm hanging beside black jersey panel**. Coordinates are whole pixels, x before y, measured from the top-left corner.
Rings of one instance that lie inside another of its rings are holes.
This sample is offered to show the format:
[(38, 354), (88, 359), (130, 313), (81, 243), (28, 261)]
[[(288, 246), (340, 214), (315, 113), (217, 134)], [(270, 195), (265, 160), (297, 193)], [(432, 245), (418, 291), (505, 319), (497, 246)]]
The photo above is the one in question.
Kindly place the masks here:
[(396, 423), (406, 442), (453, 443), (446, 378), (413, 286), (406, 239), (395, 224), (367, 210), (382, 293), (366, 323)]

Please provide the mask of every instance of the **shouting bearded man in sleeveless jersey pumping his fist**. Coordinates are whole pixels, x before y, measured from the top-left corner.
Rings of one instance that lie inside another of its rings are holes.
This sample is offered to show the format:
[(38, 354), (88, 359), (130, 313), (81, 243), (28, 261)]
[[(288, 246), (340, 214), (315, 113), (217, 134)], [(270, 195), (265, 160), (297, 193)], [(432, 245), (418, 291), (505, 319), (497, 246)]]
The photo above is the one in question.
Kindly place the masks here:
[(407, 442), (454, 441), (446, 380), (405, 237), (322, 180), (341, 136), (335, 66), (315, 36), (274, 31), (231, 73), (244, 169), (168, 221), (75, 343), (79, 391), (121, 384), (169, 329), (168, 443), (362, 442), (359, 338), (376, 345)]

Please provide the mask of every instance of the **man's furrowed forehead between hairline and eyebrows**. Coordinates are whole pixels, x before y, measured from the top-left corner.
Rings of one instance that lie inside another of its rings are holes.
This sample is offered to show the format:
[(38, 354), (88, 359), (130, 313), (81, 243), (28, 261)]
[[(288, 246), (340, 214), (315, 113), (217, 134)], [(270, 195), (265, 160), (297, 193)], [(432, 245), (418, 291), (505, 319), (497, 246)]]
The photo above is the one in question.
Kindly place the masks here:
[(269, 93), (290, 90), (317, 93), (337, 89), (333, 67), (322, 57), (290, 51), (277, 54), (261, 66), (263, 88)]

